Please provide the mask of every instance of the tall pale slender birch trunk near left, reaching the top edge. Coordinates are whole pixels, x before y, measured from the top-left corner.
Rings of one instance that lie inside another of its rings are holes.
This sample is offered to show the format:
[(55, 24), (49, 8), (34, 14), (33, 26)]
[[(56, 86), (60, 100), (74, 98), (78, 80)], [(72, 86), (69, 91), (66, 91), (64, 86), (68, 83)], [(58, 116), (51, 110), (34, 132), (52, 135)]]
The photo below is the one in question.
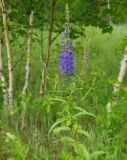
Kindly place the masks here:
[(7, 25), (7, 16), (6, 16), (6, 8), (5, 8), (5, 1), (1, 0), (2, 2), (2, 17), (3, 17), (3, 27), (4, 27), (4, 35), (5, 35), (5, 42), (7, 48), (7, 59), (8, 59), (8, 102), (9, 105), (12, 106), (13, 101), (13, 72), (12, 72), (12, 60), (11, 60), (11, 50), (10, 50), (10, 42), (9, 42), (9, 32), (8, 32), (8, 25)]

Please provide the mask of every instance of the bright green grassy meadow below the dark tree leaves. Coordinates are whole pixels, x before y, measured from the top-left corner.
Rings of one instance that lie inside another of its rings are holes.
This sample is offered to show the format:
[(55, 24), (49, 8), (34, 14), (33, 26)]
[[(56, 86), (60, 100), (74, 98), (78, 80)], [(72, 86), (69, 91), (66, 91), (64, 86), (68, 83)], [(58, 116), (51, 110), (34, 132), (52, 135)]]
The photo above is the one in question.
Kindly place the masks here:
[[(16, 66), (11, 121), (7, 108), (0, 109), (1, 160), (126, 160), (126, 76), (117, 101), (112, 94), (124, 54), (126, 25), (114, 26), (112, 34), (102, 34), (99, 28), (90, 26), (85, 34), (86, 37), (74, 40), (76, 72), (71, 77), (59, 75), (59, 40), (55, 41), (43, 99), (38, 98), (41, 48), (37, 41), (31, 56), (30, 90), (23, 101), (20, 92), (25, 59)], [(14, 43), (22, 41), (19, 38)], [(88, 68), (81, 73), (82, 53), (87, 44)], [(14, 50), (12, 46), (16, 59), (23, 47)], [(24, 108), (25, 126), (21, 128)]]

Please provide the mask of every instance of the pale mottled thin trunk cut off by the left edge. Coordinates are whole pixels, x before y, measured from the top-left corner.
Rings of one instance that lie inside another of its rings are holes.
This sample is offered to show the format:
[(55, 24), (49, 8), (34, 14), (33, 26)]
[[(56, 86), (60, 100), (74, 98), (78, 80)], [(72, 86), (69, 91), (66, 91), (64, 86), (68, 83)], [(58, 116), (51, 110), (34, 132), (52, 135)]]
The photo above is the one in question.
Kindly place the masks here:
[(1, 37), (0, 37), (0, 84), (1, 84), (2, 92), (3, 92), (4, 105), (7, 105), (7, 90), (6, 90), (5, 77), (3, 75), (3, 64), (2, 64), (2, 39)]

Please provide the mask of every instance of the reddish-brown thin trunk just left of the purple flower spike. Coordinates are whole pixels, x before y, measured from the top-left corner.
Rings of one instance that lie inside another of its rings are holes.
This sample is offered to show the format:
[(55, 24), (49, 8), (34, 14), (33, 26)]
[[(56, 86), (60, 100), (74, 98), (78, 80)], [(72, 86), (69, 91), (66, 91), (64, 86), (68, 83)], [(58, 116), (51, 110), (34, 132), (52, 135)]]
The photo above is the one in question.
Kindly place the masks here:
[(47, 72), (47, 67), (49, 63), (49, 56), (50, 56), (50, 49), (51, 49), (51, 37), (52, 37), (53, 16), (54, 16), (55, 5), (56, 5), (56, 0), (52, 0), (50, 21), (49, 21), (49, 32), (48, 32), (48, 46), (46, 49), (46, 59), (45, 59), (44, 64), (42, 65), (42, 78), (40, 82), (40, 96), (44, 95), (46, 72)]

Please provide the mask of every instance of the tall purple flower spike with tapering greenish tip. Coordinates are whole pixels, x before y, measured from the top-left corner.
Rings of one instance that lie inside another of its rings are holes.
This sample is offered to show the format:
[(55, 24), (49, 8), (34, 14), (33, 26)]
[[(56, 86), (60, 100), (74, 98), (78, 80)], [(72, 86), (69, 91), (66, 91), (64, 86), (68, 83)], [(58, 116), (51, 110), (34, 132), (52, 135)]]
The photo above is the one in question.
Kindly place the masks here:
[(74, 73), (74, 52), (70, 38), (70, 16), (68, 5), (66, 5), (66, 23), (64, 31), (61, 33), (61, 50), (60, 50), (60, 71), (63, 74), (72, 75)]

